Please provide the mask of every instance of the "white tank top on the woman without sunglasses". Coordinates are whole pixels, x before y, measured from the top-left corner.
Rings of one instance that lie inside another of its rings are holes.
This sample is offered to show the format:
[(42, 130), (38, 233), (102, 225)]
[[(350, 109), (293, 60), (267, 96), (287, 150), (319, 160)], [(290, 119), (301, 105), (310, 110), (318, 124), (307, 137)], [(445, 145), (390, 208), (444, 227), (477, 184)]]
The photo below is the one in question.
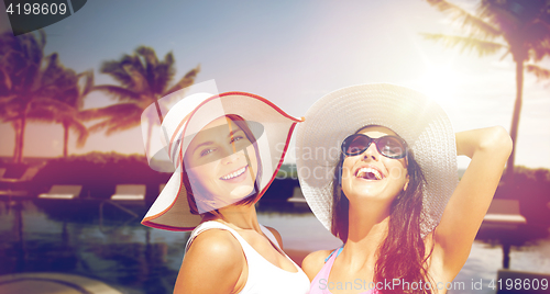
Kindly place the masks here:
[[(262, 233), (270, 238), (270, 240), (280, 250), (278, 247), (275, 236), (264, 226), (260, 225)], [(262, 257), (252, 246), (250, 246), (246, 240), (244, 240), (237, 230), (218, 223), (216, 220), (210, 220), (197, 226), (187, 240), (187, 246), (185, 251), (189, 249), (193, 240), (202, 231), (211, 228), (226, 229), (230, 231), (235, 239), (241, 244), (244, 257), (246, 258), (246, 263), (249, 264), (249, 276), (246, 278), (246, 284), (242, 289), (241, 294), (306, 294), (309, 292), (309, 279), (304, 273), (304, 271), (294, 261), (285, 255), (290, 262), (298, 270), (297, 272), (285, 271)], [(280, 250), (283, 251), (283, 250)]]

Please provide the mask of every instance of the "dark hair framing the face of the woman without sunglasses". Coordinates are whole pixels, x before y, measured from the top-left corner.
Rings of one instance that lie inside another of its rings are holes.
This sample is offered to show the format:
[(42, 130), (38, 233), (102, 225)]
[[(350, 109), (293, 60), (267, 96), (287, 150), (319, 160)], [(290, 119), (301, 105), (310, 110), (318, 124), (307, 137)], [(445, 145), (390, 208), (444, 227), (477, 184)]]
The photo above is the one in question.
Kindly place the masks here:
[[(252, 143), (252, 145), (254, 146), (254, 150), (255, 150), (255, 154), (256, 154), (256, 161), (257, 161), (257, 172), (256, 172), (256, 178), (255, 178), (255, 181), (254, 181), (254, 190), (252, 191), (252, 193), (250, 193), (246, 197), (233, 203), (234, 205), (251, 205), (251, 204), (254, 204), (257, 202), (257, 200), (261, 197), (261, 191), (260, 191), (260, 182), (261, 182), (261, 179), (262, 179), (262, 160), (260, 158), (260, 151), (257, 149), (257, 143), (256, 143), (256, 139), (254, 137), (254, 134), (252, 133), (252, 131), (250, 129), (249, 125), (246, 124), (246, 122), (244, 121), (243, 117), (241, 117), (240, 115), (237, 115), (237, 114), (228, 114), (226, 115), (226, 117), (228, 117), (229, 120), (231, 120), (233, 123), (237, 124), (237, 126), (239, 126), (239, 128), (241, 128), (242, 132), (244, 132), (244, 135), (246, 136), (246, 138)], [(187, 174), (187, 170), (185, 168), (185, 162), (184, 160), (182, 160), (182, 183), (187, 192), (187, 203), (189, 204), (189, 211), (191, 212), (191, 214), (195, 214), (195, 215), (200, 215), (198, 208), (197, 208), (197, 202), (196, 202), (196, 197), (195, 197), (195, 193), (193, 191), (193, 188), (191, 188), (191, 183), (189, 181), (189, 176)], [(195, 189), (197, 189), (197, 184), (195, 184)], [(197, 190), (201, 190), (201, 189), (197, 189)], [(196, 193), (201, 193), (202, 191), (195, 191)], [(204, 193), (204, 192), (202, 192)], [(201, 196), (205, 196), (205, 195), (201, 195)], [(213, 210), (212, 212), (206, 212), (204, 214), (201, 214), (204, 216), (206, 215), (219, 215), (219, 211), (218, 210)]]

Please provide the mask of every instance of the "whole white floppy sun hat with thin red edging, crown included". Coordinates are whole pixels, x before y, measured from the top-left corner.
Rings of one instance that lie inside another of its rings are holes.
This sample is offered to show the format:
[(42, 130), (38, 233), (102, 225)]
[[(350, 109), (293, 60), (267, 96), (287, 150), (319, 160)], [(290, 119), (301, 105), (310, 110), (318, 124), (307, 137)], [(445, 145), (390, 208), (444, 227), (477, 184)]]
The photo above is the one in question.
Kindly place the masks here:
[(193, 230), (201, 222), (201, 216), (191, 214), (189, 208), (182, 183), (182, 159), (198, 132), (229, 114), (241, 116), (255, 136), (262, 168), (257, 183), (260, 196), (266, 191), (283, 163), (294, 127), (302, 118), (293, 117), (268, 100), (251, 93), (194, 93), (174, 104), (163, 118), (161, 137), (165, 148), (160, 151), (164, 156), (158, 157), (169, 158), (175, 171), (143, 218), (143, 225)]

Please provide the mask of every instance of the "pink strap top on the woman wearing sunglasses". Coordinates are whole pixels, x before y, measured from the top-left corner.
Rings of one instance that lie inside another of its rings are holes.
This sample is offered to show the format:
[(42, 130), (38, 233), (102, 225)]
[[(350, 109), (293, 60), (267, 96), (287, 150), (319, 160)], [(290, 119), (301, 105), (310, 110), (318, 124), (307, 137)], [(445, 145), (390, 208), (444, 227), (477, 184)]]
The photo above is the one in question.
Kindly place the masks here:
[(365, 292), (361, 292), (360, 294), (381, 294), (378, 291), (376, 291), (376, 289), (370, 290), (369, 284), (363, 283), (362, 281), (348, 281), (348, 283), (329, 283), (330, 270), (332, 269), (332, 264), (334, 264), (334, 260), (341, 251), (342, 248), (339, 248), (330, 253), (330, 256), (328, 257), (328, 261), (324, 262), (324, 265), (311, 282), (309, 294), (332, 294), (332, 292), (330, 292), (331, 289), (356, 289), (366, 290)]

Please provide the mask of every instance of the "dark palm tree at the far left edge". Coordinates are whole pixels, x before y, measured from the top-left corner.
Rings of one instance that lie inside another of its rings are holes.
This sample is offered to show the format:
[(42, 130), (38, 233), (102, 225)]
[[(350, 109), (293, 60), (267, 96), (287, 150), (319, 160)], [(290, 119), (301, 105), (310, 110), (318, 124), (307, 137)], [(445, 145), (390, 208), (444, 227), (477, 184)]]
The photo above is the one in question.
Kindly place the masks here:
[(44, 56), (46, 35), (38, 31), (21, 36), (7, 32), (0, 35), (0, 116), (15, 131), (13, 161), (23, 158), (26, 122), (51, 121), (52, 109), (64, 109), (53, 99), (70, 91), (56, 53)]

